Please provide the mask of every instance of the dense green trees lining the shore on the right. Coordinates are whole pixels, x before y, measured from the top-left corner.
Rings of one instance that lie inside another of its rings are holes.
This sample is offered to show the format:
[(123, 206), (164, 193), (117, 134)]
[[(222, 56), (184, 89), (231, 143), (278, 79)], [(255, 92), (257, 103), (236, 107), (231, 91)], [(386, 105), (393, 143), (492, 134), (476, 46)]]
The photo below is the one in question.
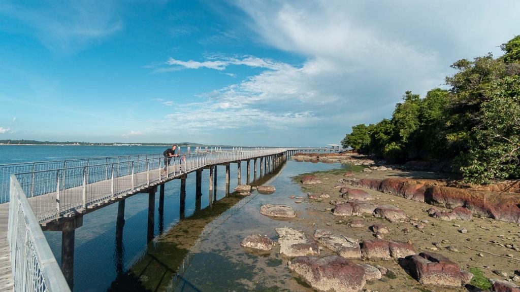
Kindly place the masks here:
[(520, 177), (520, 35), (491, 54), (451, 65), (449, 90), (406, 91), (392, 118), (360, 124), (343, 147), (388, 161), (450, 161), (466, 182)]

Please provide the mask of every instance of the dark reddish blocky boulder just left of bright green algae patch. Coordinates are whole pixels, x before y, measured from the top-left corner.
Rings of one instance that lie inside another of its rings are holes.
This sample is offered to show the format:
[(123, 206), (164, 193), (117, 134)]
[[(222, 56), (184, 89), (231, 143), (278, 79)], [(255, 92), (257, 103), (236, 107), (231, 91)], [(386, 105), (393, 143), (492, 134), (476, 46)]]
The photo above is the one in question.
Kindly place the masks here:
[(410, 258), (410, 272), (421, 284), (460, 287), (462, 273), (459, 265), (443, 255), (420, 253)]

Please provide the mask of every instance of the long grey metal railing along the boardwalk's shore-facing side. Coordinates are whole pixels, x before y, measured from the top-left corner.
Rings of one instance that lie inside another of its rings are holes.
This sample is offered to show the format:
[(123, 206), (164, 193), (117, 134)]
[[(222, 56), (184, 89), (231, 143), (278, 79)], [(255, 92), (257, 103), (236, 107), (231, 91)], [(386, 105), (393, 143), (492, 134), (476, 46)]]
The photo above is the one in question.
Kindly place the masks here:
[[(179, 157), (152, 157), (123, 162), (21, 172), (16, 174), (40, 223), (82, 212), (90, 206), (120, 195), (132, 194), (161, 181), (183, 176), (209, 165), (279, 154), (277, 149), (214, 149), (181, 154)], [(169, 161), (168, 164), (165, 164)], [(101, 161), (102, 162), (102, 161)]]

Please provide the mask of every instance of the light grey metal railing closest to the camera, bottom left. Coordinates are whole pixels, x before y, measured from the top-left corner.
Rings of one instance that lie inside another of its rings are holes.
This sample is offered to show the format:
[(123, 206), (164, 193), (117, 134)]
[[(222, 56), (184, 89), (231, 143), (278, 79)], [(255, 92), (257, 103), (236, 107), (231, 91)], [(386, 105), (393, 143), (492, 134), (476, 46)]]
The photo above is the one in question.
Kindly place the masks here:
[(7, 238), (15, 291), (70, 291), (15, 175), (10, 178)]

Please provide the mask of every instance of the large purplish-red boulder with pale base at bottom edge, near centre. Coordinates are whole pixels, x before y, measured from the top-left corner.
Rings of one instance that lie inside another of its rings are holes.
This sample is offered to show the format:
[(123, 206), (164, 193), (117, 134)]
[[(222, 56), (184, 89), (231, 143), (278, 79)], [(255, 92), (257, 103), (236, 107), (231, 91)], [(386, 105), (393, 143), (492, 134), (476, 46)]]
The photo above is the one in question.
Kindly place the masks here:
[(365, 269), (340, 256), (297, 257), (289, 270), (318, 291), (358, 292), (366, 284)]

